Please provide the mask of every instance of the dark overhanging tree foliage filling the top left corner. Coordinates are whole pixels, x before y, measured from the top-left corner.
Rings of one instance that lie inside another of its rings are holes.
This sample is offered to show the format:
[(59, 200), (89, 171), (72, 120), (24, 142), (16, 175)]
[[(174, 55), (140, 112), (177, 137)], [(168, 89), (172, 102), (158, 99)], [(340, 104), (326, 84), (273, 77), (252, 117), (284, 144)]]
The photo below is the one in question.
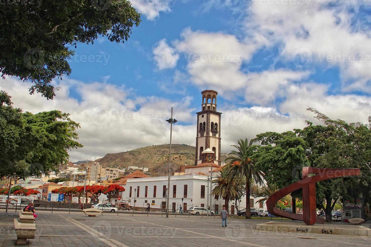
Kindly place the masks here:
[(58, 89), (50, 82), (71, 73), (72, 47), (98, 36), (124, 43), (140, 21), (127, 0), (7, 1), (0, 8), (0, 74), (30, 80), (30, 93), (53, 99)]

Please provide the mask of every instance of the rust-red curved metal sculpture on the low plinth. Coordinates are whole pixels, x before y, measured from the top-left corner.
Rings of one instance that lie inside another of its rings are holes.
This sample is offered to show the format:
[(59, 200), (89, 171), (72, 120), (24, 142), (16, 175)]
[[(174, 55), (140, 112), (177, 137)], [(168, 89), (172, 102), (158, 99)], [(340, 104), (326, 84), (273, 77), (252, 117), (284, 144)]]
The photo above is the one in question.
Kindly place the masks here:
[[(309, 177), (309, 174), (316, 175)], [(301, 220), (307, 225), (313, 225), (315, 223), (324, 224), (323, 217), (316, 216), (316, 183), (330, 178), (358, 176), (359, 174), (359, 169), (303, 167), (302, 180), (290, 184), (270, 196), (267, 200), (267, 210), (270, 214), (275, 216), (290, 218), (292, 220)], [(278, 200), (300, 188), (303, 189), (302, 215), (285, 212), (275, 208)]]

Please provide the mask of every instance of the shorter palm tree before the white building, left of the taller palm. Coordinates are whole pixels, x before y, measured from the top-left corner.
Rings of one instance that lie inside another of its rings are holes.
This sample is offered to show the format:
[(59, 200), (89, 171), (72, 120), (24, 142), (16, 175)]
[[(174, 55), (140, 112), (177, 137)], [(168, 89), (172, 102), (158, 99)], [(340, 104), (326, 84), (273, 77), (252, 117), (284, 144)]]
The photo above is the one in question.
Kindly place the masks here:
[(227, 211), (230, 198), (239, 198), (243, 194), (238, 181), (230, 178), (228, 168), (221, 169), (220, 174), (213, 180), (213, 183), (217, 185), (213, 188), (212, 194), (224, 198), (224, 207), (226, 207)]

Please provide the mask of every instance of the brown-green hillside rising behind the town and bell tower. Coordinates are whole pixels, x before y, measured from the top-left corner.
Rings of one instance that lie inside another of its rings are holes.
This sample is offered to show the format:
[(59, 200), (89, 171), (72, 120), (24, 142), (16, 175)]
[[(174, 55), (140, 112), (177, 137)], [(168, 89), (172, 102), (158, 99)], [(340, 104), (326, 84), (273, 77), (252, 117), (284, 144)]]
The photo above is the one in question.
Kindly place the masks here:
[[(185, 144), (171, 144), (171, 170), (175, 171), (181, 165), (193, 166), (196, 147)], [(222, 160), (227, 154), (221, 154)], [(152, 176), (165, 176), (169, 167), (169, 144), (153, 145), (137, 148), (122, 153), (106, 154), (99, 158), (103, 167), (118, 167), (120, 169), (128, 166), (149, 167)]]

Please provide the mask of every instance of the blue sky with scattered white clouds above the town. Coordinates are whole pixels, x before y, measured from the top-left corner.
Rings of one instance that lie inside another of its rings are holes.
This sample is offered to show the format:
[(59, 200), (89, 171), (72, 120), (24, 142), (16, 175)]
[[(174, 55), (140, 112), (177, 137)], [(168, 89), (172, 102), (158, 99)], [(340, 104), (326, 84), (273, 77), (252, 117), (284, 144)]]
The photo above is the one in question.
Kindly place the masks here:
[[(53, 101), (14, 78), (17, 107), (81, 123), (71, 160), (168, 143), (195, 145), (205, 89), (218, 91), (223, 152), (238, 138), (371, 114), (371, 0), (134, 0), (142, 22), (124, 44), (78, 44)], [(88, 59), (90, 57), (90, 59)]]

